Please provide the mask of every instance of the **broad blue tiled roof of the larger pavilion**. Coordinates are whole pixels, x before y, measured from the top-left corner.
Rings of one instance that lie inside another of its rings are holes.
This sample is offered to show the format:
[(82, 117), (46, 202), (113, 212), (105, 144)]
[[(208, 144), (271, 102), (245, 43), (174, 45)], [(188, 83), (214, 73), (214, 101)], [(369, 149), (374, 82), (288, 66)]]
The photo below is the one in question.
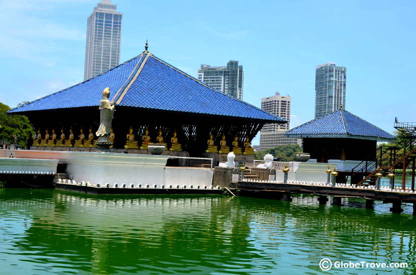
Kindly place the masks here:
[(199, 82), (147, 51), (99, 76), (9, 112), (98, 106), (107, 86), (119, 106), (286, 121)]

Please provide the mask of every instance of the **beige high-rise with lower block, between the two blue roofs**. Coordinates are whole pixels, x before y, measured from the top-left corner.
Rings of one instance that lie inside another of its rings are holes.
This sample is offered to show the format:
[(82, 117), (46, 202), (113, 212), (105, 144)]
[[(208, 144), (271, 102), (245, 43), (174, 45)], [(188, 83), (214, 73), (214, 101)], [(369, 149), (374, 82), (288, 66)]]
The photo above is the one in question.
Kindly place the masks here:
[(285, 132), (290, 127), (290, 96), (280, 95), (276, 92), (273, 96), (262, 98), (262, 109), (285, 118), (286, 123), (267, 123), (260, 131), (260, 150), (274, 148), (277, 145), (299, 144), (302, 146), (302, 139), (289, 138)]

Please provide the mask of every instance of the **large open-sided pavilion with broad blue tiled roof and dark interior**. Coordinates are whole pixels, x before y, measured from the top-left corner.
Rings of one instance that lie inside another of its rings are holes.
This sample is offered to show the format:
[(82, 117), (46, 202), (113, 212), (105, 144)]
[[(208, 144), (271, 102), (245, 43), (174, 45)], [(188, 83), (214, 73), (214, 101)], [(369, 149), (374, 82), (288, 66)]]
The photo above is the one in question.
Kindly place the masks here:
[[(285, 120), (247, 102), (230, 97), (189, 74), (143, 51), (140, 55), (84, 82), (52, 93), (9, 111), (25, 114), (42, 134), (48, 128), (59, 132), (99, 124), (98, 104), (102, 90), (110, 87), (116, 104), (112, 122), (114, 147), (123, 148), (130, 126), (139, 140), (145, 128), (153, 139), (158, 130), (164, 140), (177, 132), (183, 150), (198, 155), (206, 148), (210, 132), (216, 142), (225, 134), (231, 143), (250, 140), (265, 123)], [(229, 144), (230, 145), (230, 144)]]

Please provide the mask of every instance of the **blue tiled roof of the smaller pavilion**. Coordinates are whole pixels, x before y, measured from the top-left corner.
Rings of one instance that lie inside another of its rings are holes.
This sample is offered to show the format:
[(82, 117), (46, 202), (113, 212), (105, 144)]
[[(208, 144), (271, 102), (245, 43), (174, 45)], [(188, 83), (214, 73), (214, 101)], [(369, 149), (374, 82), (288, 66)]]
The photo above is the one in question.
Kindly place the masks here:
[(346, 110), (336, 110), (286, 132), (289, 137), (347, 137), (388, 141), (395, 137)]

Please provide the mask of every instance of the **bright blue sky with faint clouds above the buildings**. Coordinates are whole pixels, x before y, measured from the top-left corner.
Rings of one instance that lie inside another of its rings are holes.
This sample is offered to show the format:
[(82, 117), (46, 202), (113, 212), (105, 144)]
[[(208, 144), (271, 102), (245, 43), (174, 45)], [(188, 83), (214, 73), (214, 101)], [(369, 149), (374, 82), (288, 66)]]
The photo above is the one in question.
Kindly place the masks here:
[[(98, 2), (0, 0), (0, 102), (16, 106), (83, 80), (87, 17)], [(121, 62), (146, 39), (191, 75), (239, 60), (243, 99), (260, 106), (261, 97), (289, 94), (294, 127), (314, 118), (315, 66), (333, 61), (347, 67), (348, 111), (389, 132), (395, 116), (416, 121), (416, 1), (113, 3), (124, 14)]]

